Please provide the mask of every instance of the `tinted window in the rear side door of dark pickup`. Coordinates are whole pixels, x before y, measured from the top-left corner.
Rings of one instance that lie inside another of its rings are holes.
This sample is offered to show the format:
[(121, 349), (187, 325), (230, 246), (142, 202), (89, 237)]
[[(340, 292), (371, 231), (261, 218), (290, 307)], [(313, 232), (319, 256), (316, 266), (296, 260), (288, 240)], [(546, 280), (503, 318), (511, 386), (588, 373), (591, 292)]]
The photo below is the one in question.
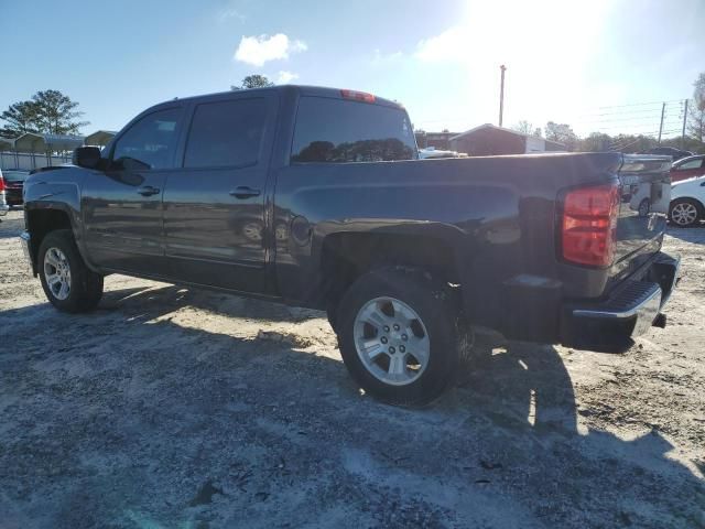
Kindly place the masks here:
[(267, 104), (262, 97), (198, 105), (188, 133), (184, 166), (256, 164), (265, 117)]

